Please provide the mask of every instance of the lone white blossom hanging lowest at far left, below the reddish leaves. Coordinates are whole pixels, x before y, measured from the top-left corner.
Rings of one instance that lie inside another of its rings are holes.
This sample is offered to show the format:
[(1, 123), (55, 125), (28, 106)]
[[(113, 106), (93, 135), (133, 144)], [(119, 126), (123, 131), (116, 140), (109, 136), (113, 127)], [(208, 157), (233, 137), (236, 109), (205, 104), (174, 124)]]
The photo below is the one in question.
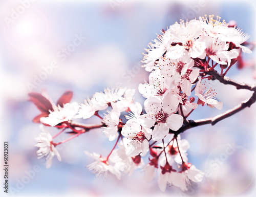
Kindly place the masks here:
[(55, 148), (54, 143), (52, 142), (52, 136), (50, 133), (45, 129), (43, 125), (40, 125), (40, 129), (43, 133), (39, 134), (39, 137), (35, 138), (37, 144), (35, 147), (39, 149), (36, 151), (37, 159), (42, 157), (46, 157), (46, 168), (50, 168), (52, 165), (52, 158), (56, 155), (58, 160), (61, 161), (61, 157), (59, 155), (58, 150)]

